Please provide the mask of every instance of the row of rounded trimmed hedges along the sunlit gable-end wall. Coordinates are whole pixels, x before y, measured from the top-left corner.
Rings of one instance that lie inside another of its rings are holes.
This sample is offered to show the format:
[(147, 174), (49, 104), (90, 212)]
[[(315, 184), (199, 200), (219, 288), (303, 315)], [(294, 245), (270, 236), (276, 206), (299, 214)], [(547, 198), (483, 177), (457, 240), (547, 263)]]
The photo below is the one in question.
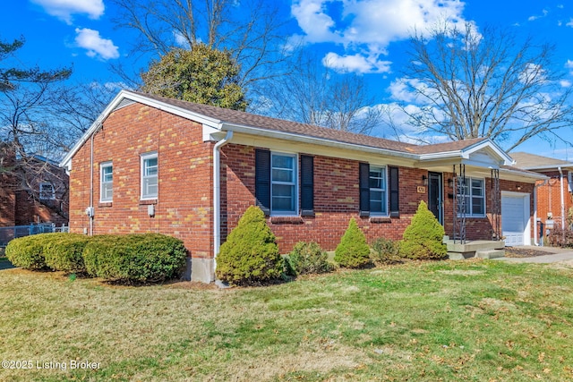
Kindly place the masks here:
[(87, 273), (116, 281), (157, 282), (184, 270), (187, 250), (179, 239), (158, 233), (84, 236), (40, 233), (8, 243), (16, 267)]

